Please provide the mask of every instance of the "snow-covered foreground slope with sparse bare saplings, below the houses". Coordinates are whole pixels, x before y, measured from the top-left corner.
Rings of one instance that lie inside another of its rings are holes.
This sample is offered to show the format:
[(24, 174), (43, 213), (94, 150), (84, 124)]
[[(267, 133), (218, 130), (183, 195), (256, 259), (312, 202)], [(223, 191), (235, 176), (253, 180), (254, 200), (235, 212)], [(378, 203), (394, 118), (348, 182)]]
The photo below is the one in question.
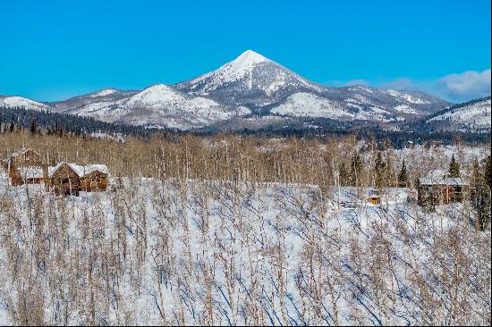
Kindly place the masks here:
[[(357, 196), (359, 193), (359, 197)], [(0, 181), (0, 323), (489, 324), (490, 231), (406, 189)]]

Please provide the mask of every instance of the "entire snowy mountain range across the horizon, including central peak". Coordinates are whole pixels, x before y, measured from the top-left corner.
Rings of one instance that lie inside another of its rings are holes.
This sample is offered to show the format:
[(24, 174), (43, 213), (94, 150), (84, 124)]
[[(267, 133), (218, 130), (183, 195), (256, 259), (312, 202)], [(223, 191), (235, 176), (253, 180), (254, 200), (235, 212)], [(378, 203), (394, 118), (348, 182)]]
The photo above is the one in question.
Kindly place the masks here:
[[(459, 115), (456, 113), (460, 111), (459, 107), (451, 105), (423, 92), (322, 86), (251, 50), (216, 71), (174, 85), (157, 84), (140, 91), (105, 88), (53, 103), (0, 96), (0, 106), (178, 130), (254, 129), (268, 124), (289, 126), (306, 118), (339, 123), (340, 126), (376, 123), (390, 129), (399, 123), (420, 121), (425, 117), (430, 117), (429, 124), (439, 121), (441, 125), (453, 122), (454, 127), (466, 125), (465, 121), (472, 115)], [(452, 113), (446, 111), (451, 108), (454, 108)], [(467, 110), (481, 114), (483, 108), (487, 109), (486, 106), (475, 106), (473, 110)], [(490, 100), (488, 116), (489, 113)], [(480, 120), (475, 126), (481, 129), (484, 124), (487, 122)], [(467, 126), (471, 128), (470, 124)], [(313, 127), (316, 128), (306, 128)]]

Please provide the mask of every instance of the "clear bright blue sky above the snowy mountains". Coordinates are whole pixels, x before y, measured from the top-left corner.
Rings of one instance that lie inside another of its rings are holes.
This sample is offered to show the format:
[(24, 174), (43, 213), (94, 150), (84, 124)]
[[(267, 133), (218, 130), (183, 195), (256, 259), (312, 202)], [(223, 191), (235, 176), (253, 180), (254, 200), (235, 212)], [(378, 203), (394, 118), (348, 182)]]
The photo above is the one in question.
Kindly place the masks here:
[(490, 37), (489, 0), (0, 0), (0, 94), (170, 84), (246, 49), (322, 84), (432, 91), (448, 74), (488, 70)]

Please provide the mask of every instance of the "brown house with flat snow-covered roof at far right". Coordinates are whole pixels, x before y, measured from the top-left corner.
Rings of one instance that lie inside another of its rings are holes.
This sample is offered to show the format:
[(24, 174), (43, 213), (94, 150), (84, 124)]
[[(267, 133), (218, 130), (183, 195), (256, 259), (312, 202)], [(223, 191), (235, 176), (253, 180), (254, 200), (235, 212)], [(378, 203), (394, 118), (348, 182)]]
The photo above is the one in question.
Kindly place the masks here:
[(462, 202), (468, 188), (462, 178), (420, 178), (418, 203), (425, 206)]

